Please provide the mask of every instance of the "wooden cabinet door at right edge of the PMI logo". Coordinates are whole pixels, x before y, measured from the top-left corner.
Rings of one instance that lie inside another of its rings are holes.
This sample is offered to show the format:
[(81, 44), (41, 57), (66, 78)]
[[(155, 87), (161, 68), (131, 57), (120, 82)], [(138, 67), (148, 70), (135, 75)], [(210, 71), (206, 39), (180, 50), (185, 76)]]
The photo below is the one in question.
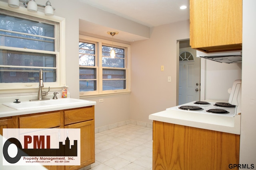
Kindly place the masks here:
[(95, 162), (94, 120), (66, 125), (65, 128), (80, 128), (80, 166), (66, 166), (66, 170), (76, 170)]

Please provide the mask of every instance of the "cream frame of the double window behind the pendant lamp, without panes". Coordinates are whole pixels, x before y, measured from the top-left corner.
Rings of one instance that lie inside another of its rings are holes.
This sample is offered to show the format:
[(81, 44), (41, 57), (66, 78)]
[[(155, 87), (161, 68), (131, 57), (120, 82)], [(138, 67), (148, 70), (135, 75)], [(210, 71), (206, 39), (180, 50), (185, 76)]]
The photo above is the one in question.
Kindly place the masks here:
[[(79, 35), (79, 40), (81, 42), (92, 43), (95, 42), (98, 47), (98, 51), (96, 51), (95, 57), (95, 66), (86, 66), (87, 68), (96, 68), (96, 79), (97, 79), (97, 88), (95, 91), (84, 91), (79, 92), (80, 98), (90, 98), (92, 96), (109, 96), (115, 94), (129, 94), (130, 90), (130, 45), (125, 43), (113, 42), (114, 47), (117, 48), (126, 48), (126, 56), (125, 56), (125, 68), (112, 68), (112, 67), (102, 67), (102, 45), (112, 46), (112, 41), (106, 39), (99, 39), (95, 37), (90, 37), (87, 35)], [(78, 65), (79, 66), (79, 65)], [(80, 66), (79, 66), (80, 67)], [(126, 89), (118, 89), (118, 90), (103, 90), (102, 89), (102, 69), (103, 68), (110, 68), (110, 69), (118, 69), (118, 70), (126, 70)]]

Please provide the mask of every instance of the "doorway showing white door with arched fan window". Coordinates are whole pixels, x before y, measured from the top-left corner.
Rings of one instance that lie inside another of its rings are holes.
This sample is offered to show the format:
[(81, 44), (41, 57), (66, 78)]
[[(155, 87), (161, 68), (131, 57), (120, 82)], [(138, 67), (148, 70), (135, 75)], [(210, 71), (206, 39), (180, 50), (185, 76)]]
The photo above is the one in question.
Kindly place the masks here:
[(177, 104), (200, 101), (200, 57), (189, 39), (177, 41)]

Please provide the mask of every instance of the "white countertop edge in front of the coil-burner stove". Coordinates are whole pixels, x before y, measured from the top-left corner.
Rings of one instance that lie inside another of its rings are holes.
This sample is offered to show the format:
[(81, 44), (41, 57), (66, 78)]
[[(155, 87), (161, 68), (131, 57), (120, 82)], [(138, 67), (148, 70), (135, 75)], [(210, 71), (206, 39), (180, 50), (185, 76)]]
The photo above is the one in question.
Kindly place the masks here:
[(149, 115), (149, 119), (213, 131), (240, 134), (240, 114), (234, 117), (226, 117), (217, 114), (164, 110)]

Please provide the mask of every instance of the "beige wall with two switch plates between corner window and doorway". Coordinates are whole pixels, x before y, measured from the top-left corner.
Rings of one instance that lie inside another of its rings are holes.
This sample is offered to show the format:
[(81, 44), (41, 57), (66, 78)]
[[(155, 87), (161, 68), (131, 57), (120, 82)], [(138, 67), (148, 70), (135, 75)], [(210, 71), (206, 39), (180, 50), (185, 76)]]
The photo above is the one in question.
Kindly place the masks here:
[(150, 123), (148, 115), (176, 106), (176, 43), (188, 38), (187, 20), (154, 27), (149, 40), (132, 43), (131, 119)]

